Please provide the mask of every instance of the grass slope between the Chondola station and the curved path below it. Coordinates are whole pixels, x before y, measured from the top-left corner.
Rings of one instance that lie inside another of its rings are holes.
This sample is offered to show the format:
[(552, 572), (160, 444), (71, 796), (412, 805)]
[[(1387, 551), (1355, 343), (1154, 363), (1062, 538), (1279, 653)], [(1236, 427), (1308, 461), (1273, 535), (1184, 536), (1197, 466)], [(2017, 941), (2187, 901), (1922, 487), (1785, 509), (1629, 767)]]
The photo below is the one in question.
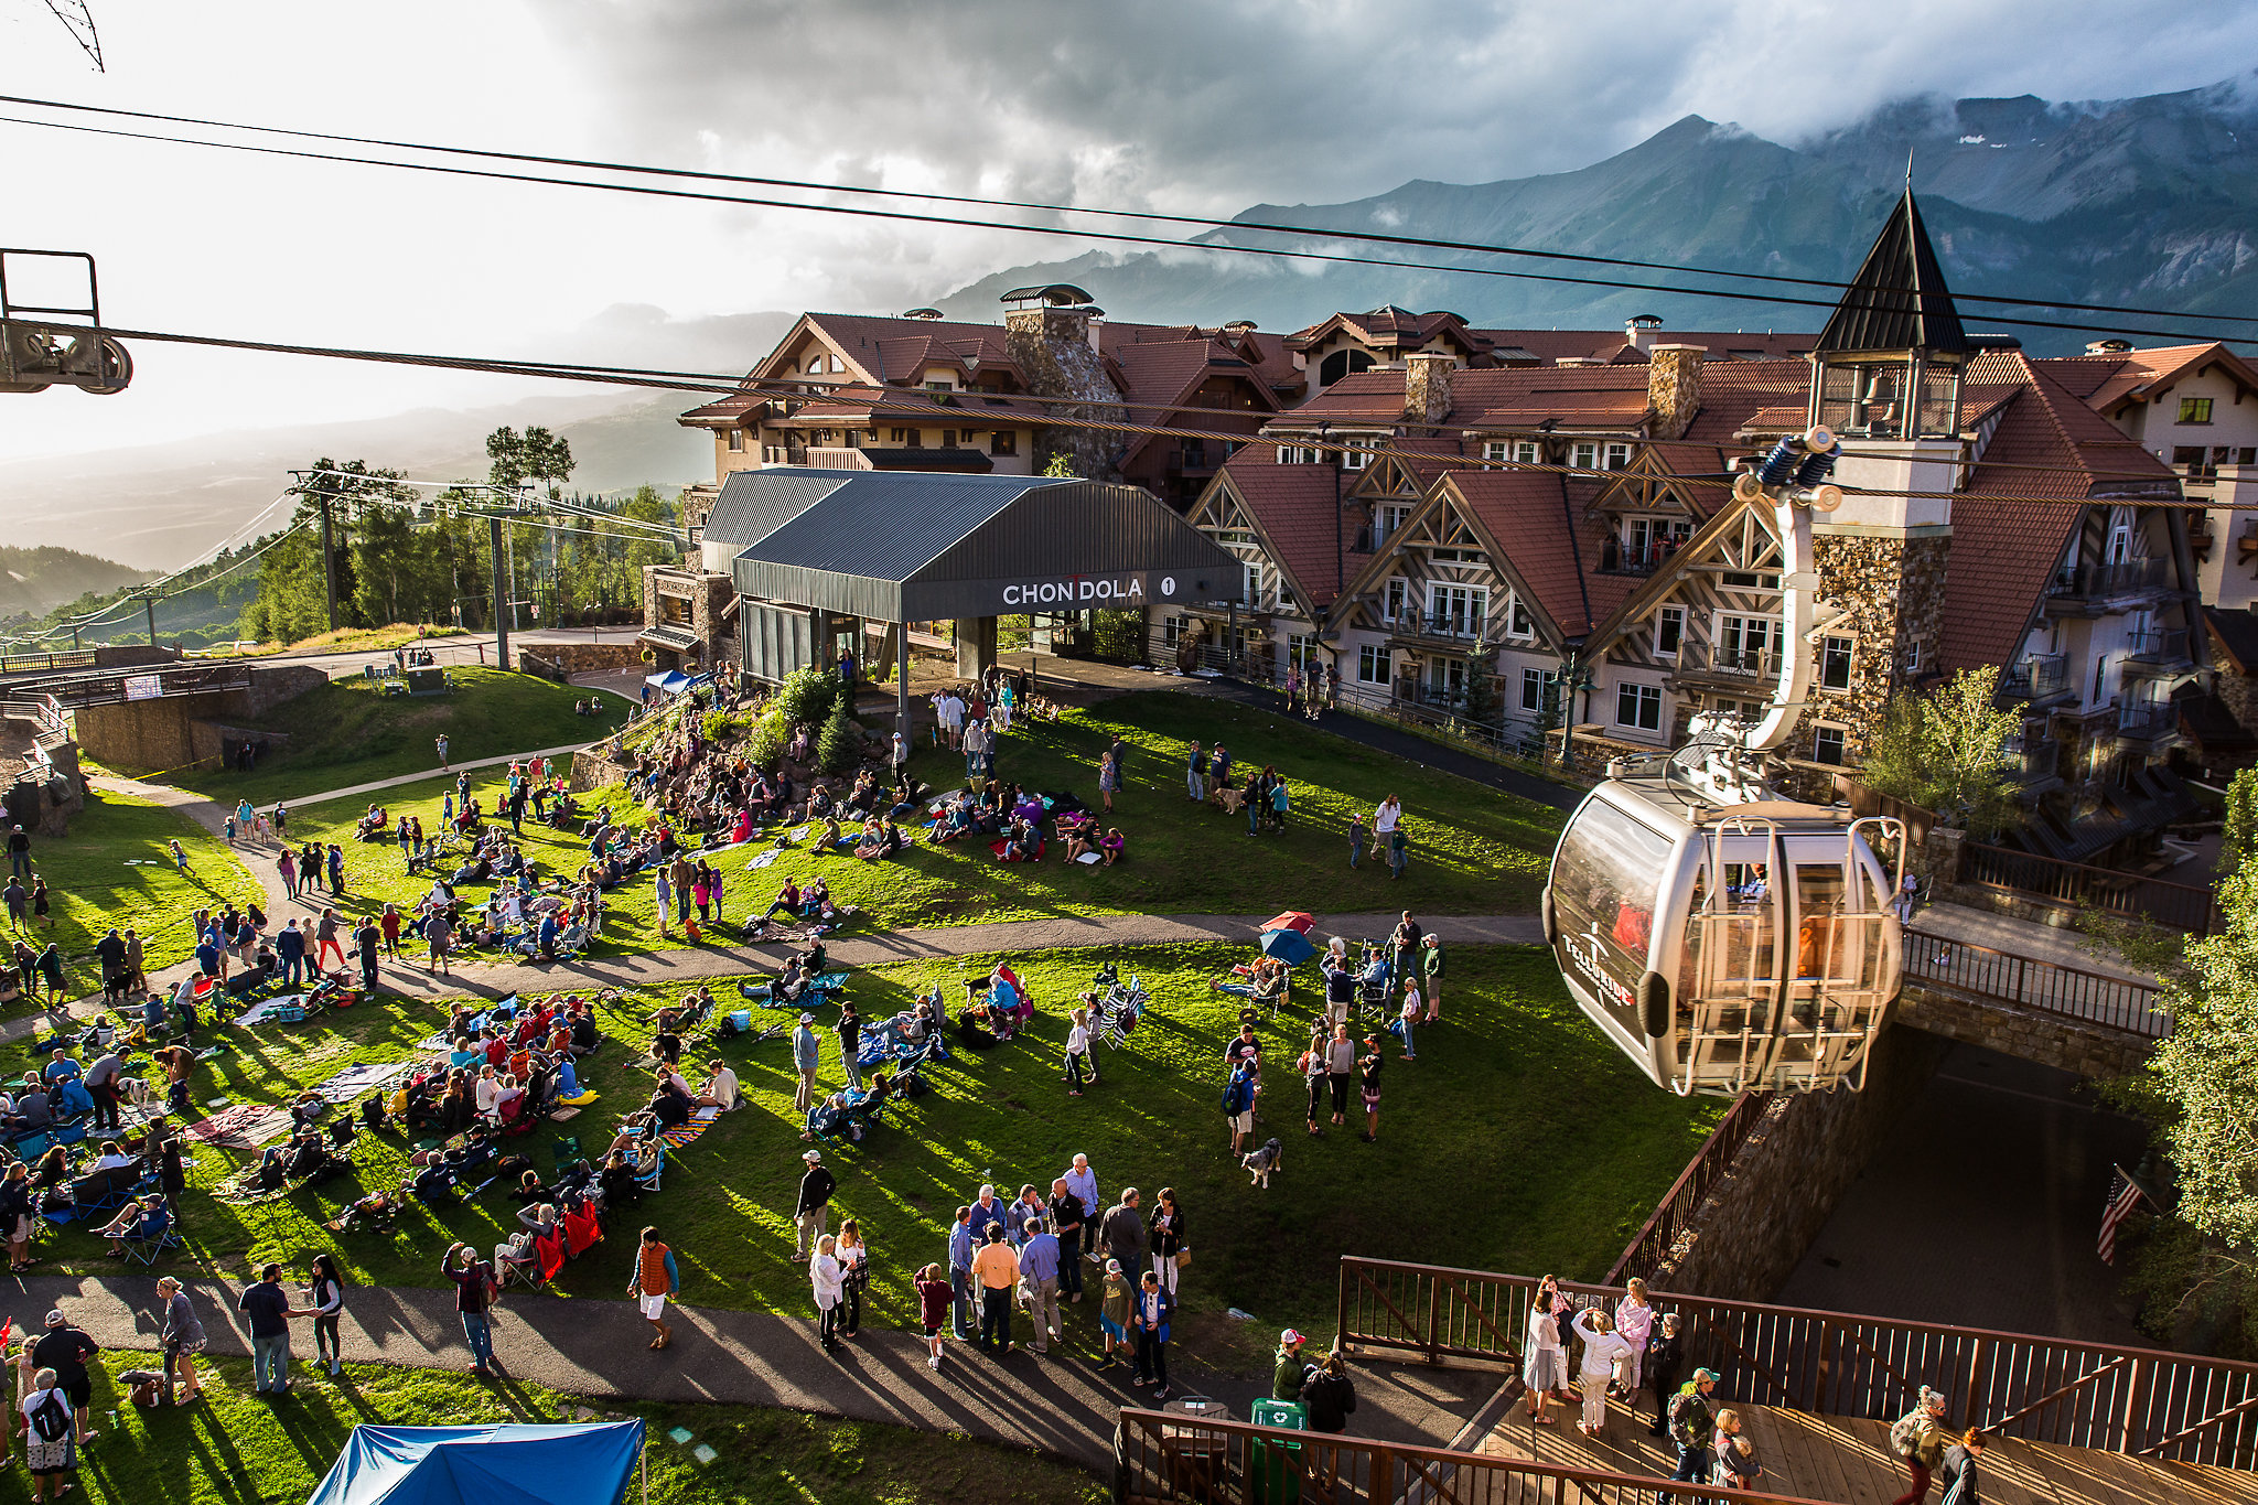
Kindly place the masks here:
[[(1091, 769), (1115, 736), (1129, 747), (1129, 787), (1115, 801), (1129, 860), (1118, 866), (1079, 866), (1057, 857), (1005, 864), (984, 842), (919, 844), (894, 862), (869, 864), (847, 853), (820, 853), (802, 839), (759, 871), (745, 866), (759, 846), (723, 855), (725, 912), (743, 918), (765, 909), (786, 875), (804, 880), (822, 873), (833, 896), (860, 905), (881, 927), (1054, 914), (1267, 914), (1280, 907), (1319, 914), (1499, 914), (1535, 905), (1560, 828), (1560, 812), (1544, 806), (1375, 754), (1298, 720), (1192, 695), (1122, 695), (1057, 722), (1034, 722), (1025, 733), (1012, 733), (1000, 772), (1027, 787), (1073, 790), (1095, 801)], [(1224, 738), (1240, 758), (1276, 763), (1287, 772), (1294, 812), (1283, 837), (1249, 837), (1244, 817), (1190, 803), (1176, 772), (1190, 738)], [(964, 765), (955, 754), (924, 747), (910, 767), (939, 790), (962, 785)], [(452, 787), (452, 778), (402, 785), (384, 794), (384, 806), (395, 819), (420, 815), (425, 830), (436, 833), (440, 801)], [(499, 776), (474, 776), (472, 787), (485, 808), (499, 803)], [(1389, 878), (1382, 862), (1348, 866), (1348, 812), (1368, 817), (1389, 792), (1404, 801), (1411, 830), (1411, 869), (1402, 880)], [(598, 799), (630, 826), (646, 819), (623, 790), (605, 790)], [(296, 808), (291, 835), (345, 848), (348, 898), (364, 909), (429, 894), (429, 880), (406, 875), (397, 846), (352, 842), (352, 824), (366, 808), (368, 799)], [(576, 835), (531, 821), (522, 844), (546, 873), (571, 873), (587, 857)], [(650, 900), (648, 878), (614, 889), (596, 954), (655, 948)]]

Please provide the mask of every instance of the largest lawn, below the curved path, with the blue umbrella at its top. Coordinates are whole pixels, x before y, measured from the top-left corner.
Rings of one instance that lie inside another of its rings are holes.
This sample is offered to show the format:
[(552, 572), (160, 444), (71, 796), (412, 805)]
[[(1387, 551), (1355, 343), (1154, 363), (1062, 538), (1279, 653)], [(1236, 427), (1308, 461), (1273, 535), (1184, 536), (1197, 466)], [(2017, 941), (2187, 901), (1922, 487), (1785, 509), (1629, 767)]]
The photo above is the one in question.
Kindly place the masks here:
[[(960, 1049), (937, 1072), (937, 1092), (896, 1108), (860, 1146), (826, 1151), (840, 1178), (835, 1218), (860, 1216), (876, 1255), (874, 1320), (910, 1320), (908, 1275), (944, 1257), (946, 1223), (982, 1180), (1012, 1191), (1039, 1182), (1048, 1194), (1075, 1151), (1091, 1155), (1109, 1198), (1122, 1182), (1140, 1187), (1147, 1205), (1161, 1185), (1176, 1187), (1197, 1248), (1183, 1300), (1210, 1356), (1226, 1343), (1219, 1331), (1253, 1343), (1244, 1338), (1253, 1329), (1213, 1320), (1224, 1306), (1255, 1313), (1258, 1327), (1271, 1331), (1283, 1322), (1328, 1331), (1334, 1259), (1344, 1252), (1596, 1277), (1716, 1117), (1714, 1103), (1644, 1085), (1567, 1000), (1544, 952), (1461, 948), (1452, 957), (1445, 1022), (1420, 1033), (1420, 1058), (1402, 1065), (1389, 1045), (1377, 1146), (1362, 1144), (1355, 1130), (1334, 1128), (1323, 1139), (1303, 1133), (1303, 1092), (1289, 1054), (1307, 1038), (1298, 1020), (1312, 995), (1298, 995), (1294, 1018), (1262, 1027), (1274, 1049), (1264, 1133), (1285, 1142), (1287, 1160), (1271, 1191), (1253, 1191), (1226, 1158), (1217, 1103), (1222, 1042), (1235, 1031), (1242, 1000), (1208, 988), (1217, 968), (1246, 954), (1122, 952), (1122, 972), (1140, 972), (1154, 1004), (1129, 1049), (1100, 1047), (1104, 1083), (1082, 1099), (1066, 1097), (1059, 1083), (1059, 1042), (1064, 1006), (1097, 959), (1016, 959), (1039, 1002), (1032, 1033), (984, 1056)], [(984, 966), (969, 961), (964, 975)], [(957, 977), (955, 961), (883, 968), (856, 975), (849, 993), (865, 1018), (881, 1018), (926, 984), (939, 982), (951, 1000), (960, 997)], [(632, 1042), (648, 1038), (641, 1018), (659, 1002), (657, 993), (630, 995), (603, 1018), (614, 1045), (583, 1074), (603, 1101), (569, 1124), (540, 1126), (510, 1148), (533, 1155), (546, 1173), (560, 1133), (578, 1135), (585, 1151), (607, 1144), (619, 1115), (648, 1090), (648, 1076), (632, 1070)], [(194, 1099), (280, 1101), (350, 1063), (404, 1058), (436, 1027), (436, 1015), (429, 1004), (379, 1004), (296, 1029), (228, 1029), (221, 1036), (228, 1051), (199, 1070)], [(756, 1024), (784, 1018), (754, 1013)], [(826, 1009), (822, 1081), (838, 1085), (831, 1018)], [(673, 1153), (666, 1189), (630, 1212), (628, 1223), (653, 1221), (666, 1232), (684, 1261), (686, 1302), (799, 1313), (806, 1273), (793, 1261), (788, 1218), (806, 1146), (790, 1112), (788, 1040), (759, 1047), (736, 1040), (718, 1054), (738, 1070), (750, 1106)], [(1605, 1112), (1592, 1112), (1590, 1103), (1603, 1103)], [(393, 1187), (406, 1148), (397, 1137), (364, 1135), (359, 1185)], [(244, 1162), (199, 1151), (192, 1185), (210, 1191)], [(1477, 1196), (1468, 1196), (1470, 1169), (1479, 1169)], [(429, 1286), (452, 1239), (492, 1248), (506, 1223), (515, 1227), (515, 1205), (504, 1205), (495, 1187), (445, 1218), (415, 1209), (393, 1236), (339, 1241), (318, 1223), (355, 1194), (345, 1178), (262, 1207), (190, 1196), (194, 1261), (217, 1261), (239, 1277), (248, 1261), (336, 1250), (355, 1282)], [(99, 1243), (84, 1232), (61, 1234), (41, 1255), (63, 1257), (77, 1270), (106, 1268)], [(625, 1261), (623, 1243), (605, 1243), (560, 1284), (576, 1295), (616, 1297)], [(1075, 1313), (1070, 1336), (1091, 1340), (1091, 1306)]]

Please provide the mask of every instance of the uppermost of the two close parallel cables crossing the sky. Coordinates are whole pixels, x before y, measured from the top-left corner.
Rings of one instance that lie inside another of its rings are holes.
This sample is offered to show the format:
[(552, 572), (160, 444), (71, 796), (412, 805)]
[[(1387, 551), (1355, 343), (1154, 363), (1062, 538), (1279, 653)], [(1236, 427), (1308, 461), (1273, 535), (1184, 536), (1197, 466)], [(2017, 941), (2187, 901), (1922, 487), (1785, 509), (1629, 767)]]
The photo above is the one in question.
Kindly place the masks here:
[[(215, 131), (244, 131), (244, 133), (257, 133), (257, 135), (282, 135), (282, 138), (291, 138), (291, 140), (339, 142), (339, 144), (350, 144), (350, 147), (382, 147), (382, 149), (388, 149), (388, 151), (425, 151), (425, 153), (436, 153), (436, 156), (481, 158), (481, 160), (492, 160), (492, 162), (526, 162), (526, 165), (535, 165), (535, 167), (571, 167), (571, 169), (583, 169), (583, 171), (621, 171), (621, 174), (655, 176), (655, 178), (686, 178), (686, 181), (698, 181), (698, 183), (743, 183), (747, 187), (788, 187), (788, 190), (802, 190), (802, 192), (851, 194), (851, 196), (869, 196), (869, 199), (910, 199), (910, 201), (917, 201), (917, 203), (955, 203), (955, 205), (987, 208), (987, 210), (1025, 210), (1025, 212), (1039, 212), (1039, 214), (1082, 214), (1082, 217), (1091, 217), (1091, 219), (1131, 219), (1131, 221), (1143, 221), (1143, 223), (1197, 226), (1197, 228), (1204, 228), (1204, 230), (1237, 230), (1237, 232), (1260, 232), (1260, 235), (1314, 235), (1319, 239), (1364, 241), (1364, 244), (1377, 244), (1377, 246), (1414, 246), (1414, 248), (1423, 248), (1423, 250), (1470, 250), (1470, 253), (1479, 253), (1479, 255), (1511, 255), (1511, 257), (1529, 257), (1529, 259), (1540, 259), (1540, 262), (1572, 262), (1572, 264), (1583, 264), (1583, 266), (1628, 266), (1628, 269), (1639, 269), (1639, 271), (1680, 271), (1680, 273), (1694, 273), (1694, 275), (1703, 275), (1703, 278), (1739, 278), (1739, 280), (1745, 280), (1745, 282), (1777, 282), (1777, 284), (1784, 284), (1784, 287), (1818, 287), (1818, 289), (1836, 289), (1836, 291), (1849, 287), (1849, 282), (1840, 282), (1840, 280), (1833, 280), (1833, 278), (1793, 278), (1793, 275), (1784, 275), (1784, 273), (1734, 271), (1734, 269), (1727, 269), (1727, 266), (1698, 266), (1698, 264), (1687, 264), (1687, 262), (1651, 262), (1651, 259), (1639, 259), (1639, 257), (1608, 257), (1608, 255), (1576, 253), (1576, 250), (1538, 250), (1533, 246), (1502, 246), (1502, 244), (1493, 244), (1493, 241), (1454, 241), (1454, 239), (1438, 239), (1438, 237), (1427, 237), (1427, 235), (1386, 235), (1386, 232), (1380, 232), (1380, 230), (1341, 230), (1341, 228), (1325, 228), (1325, 226), (1292, 226), (1292, 223), (1264, 223), (1264, 221), (1242, 221), (1242, 219), (1213, 219), (1213, 217), (1206, 217), (1206, 214), (1165, 214), (1165, 212), (1158, 212), (1158, 210), (1106, 210), (1106, 208), (1091, 208), (1091, 205), (1075, 205), (1075, 203), (1041, 203), (1041, 201), (1027, 201), (1027, 199), (984, 199), (984, 196), (978, 196), (978, 194), (937, 194), (937, 192), (924, 192), (924, 190), (872, 187), (872, 185), (863, 185), (863, 183), (822, 183), (822, 181), (813, 181), (813, 178), (774, 178), (774, 176), (732, 174), (732, 171), (711, 171), (711, 169), (693, 169), (693, 167), (653, 167), (653, 165), (646, 165), (646, 162), (610, 162), (610, 160), (603, 160), (603, 158), (569, 158), (569, 156), (546, 156), (546, 153), (535, 153), (535, 151), (497, 151), (497, 149), (490, 149), (490, 147), (447, 147), (447, 144), (434, 144), (434, 142), (388, 140), (388, 138), (379, 138), (379, 135), (345, 135), (345, 133), (339, 133), (339, 131), (298, 131), (298, 129), (287, 129), (287, 126), (255, 126), (255, 124), (244, 124), (244, 122), (235, 122), (235, 120), (210, 120), (210, 117), (201, 117), (201, 115), (165, 115), (165, 113), (156, 113), (156, 111), (124, 111), (124, 108), (97, 106), (97, 104), (72, 104), (72, 102), (65, 102), (65, 99), (36, 99), (36, 97), (25, 97), (25, 95), (0, 95), (0, 104), (29, 104), (34, 108), (75, 111), (75, 113), (84, 113), (84, 115), (108, 115), (108, 117), (117, 117), (117, 120), (151, 120), (151, 122), (163, 122), (163, 124), (205, 126), (205, 129), (215, 129)], [(56, 124), (59, 126), (61, 122), (23, 122), (23, 124)], [(228, 147), (228, 142), (187, 142), (185, 138), (174, 138), (174, 135), (149, 135), (145, 140), (167, 140), (167, 142), (183, 142), (183, 144)], [(332, 158), (332, 160), (368, 162), (368, 158)], [(386, 162), (386, 165), (413, 167), (411, 162)], [(555, 178), (540, 178), (540, 181), (555, 183)], [(585, 187), (603, 187), (603, 185), (587, 183)], [(797, 208), (822, 208), (822, 205), (797, 205)], [(1007, 226), (1007, 228), (1023, 228), (1023, 230), (1039, 230), (1039, 232), (1066, 232), (1066, 230), (1050, 230), (1045, 226)], [(1183, 241), (1167, 241), (1167, 244), (1183, 244)], [(1657, 291), (1675, 291), (1675, 289), (1657, 289)], [(1876, 291), (1913, 293), (1917, 289), (1892, 287), (1892, 289), (1876, 289)], [(2136, 316), (2145, 316), (2145, 318), (2197, 318), (2195, 314), (2186, 314), (2186, 311), (2179, 311), (2179, 309), (2147, 309), (2147, 307), (2116, 305), (2116, 302), (2066, 302), (2066, 300), (2046, 300), (2046, 298), (2007, 298), (2007, 296), (1996, 296), (1996, 293), (1953, 293), (1953, 298), (1958, 302), (1989, 302), (1989, 305), (2023, 307), (2023, 309), (2059, 309), (2059, 311), (2077, 311), (2077, 314), (2136, 314)], [(2215, 314), (2215, 316), (2204, 316), (2204, 318), (2224, 320), (2224, 323), (2242, 323), (2242, 325), (2258, 323), (2258, 316), (2242, 316), (2242, 314)]]

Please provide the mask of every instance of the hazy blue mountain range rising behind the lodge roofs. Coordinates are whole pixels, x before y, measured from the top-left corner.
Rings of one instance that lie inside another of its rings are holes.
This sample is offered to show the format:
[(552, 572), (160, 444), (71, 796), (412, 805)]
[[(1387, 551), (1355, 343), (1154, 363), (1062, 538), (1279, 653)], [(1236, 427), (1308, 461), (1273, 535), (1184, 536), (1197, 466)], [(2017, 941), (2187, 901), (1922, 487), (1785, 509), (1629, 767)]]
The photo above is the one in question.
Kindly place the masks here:
[[(1630, 151), (1576, 171), (1497, 183), (1404, 183), (1350, 203), (1255, 205), (1237, 223), (1386, 230), (1436, 239), (1531, 246), (1648, 262), (1800, 278), (1845, 278), (1874, 223), (1901, 192), (1913, 160), (1922, 214), (1958, 293), (2064, 298), (2258, 314), (2258, 83), (2242, 81), (2145, 99), (2048, 104), (1910, 99), (1809, 142), (1768, 142), (1689, 115)], [(1208, 244), (1280, 244), (1217, 230)], [(1567, 275), (1608, 269), (1344, 246), (1447, 264)], [(1624, 273), (1662, 284), (1721, 284), (1682, 273)], [(1477, 325), (1608, 327), (1662, 314), (1678, 327), (1815, 329), (1822, 307), (1739, 302), (1664, 291), (1603, 291), (1384, 266), (1287, 264), (1262, 257), (1088, 253), (1014, 266), (939, 302), (953, 318), (996, 318), (1005, 289), (1077, 282), (1115, 318), (1253, 318), (1296, 329), (1332, 309), (1395, 302), (1456, 309)], [(1748, 287), (1723, 282), (1725, 287)], [(1813, 298), (1824, 298), (1813, 291)], [(1964, 309), (2041, 352), (2084, 345), (2080, 332), (2019, 329)], [(2048, 318), (2034, 309), (1996, 314)], [(2154, 325), (2136, 316), (2100, 323)]]

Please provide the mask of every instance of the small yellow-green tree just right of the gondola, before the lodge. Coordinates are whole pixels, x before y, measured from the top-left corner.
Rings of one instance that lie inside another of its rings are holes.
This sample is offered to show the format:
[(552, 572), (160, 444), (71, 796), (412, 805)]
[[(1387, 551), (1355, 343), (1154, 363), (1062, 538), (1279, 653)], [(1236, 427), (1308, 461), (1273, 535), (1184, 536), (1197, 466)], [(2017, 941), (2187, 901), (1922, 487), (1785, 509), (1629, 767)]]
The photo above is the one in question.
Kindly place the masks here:
[(1928, 695), (1892, 695), (1865, 783), (1992, 837), (2023, 821), (2016, 787), (2023, 713), (1998, 709), (1998, 668), (1967, 668)]

